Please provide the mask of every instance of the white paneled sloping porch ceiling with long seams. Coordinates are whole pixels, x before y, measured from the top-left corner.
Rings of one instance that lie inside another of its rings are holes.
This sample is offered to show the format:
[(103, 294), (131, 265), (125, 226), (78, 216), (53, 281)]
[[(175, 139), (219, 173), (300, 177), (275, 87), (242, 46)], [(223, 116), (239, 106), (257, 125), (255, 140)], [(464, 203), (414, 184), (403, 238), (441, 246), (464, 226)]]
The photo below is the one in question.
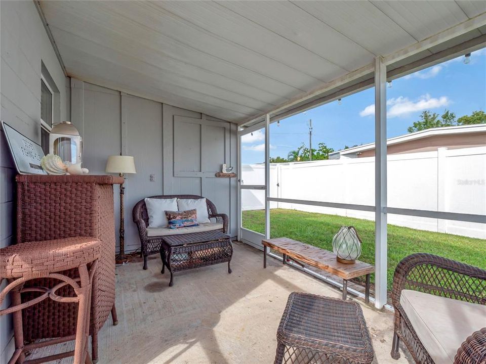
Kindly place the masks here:
[(67, 73), (242, 122), (483, 12), (484, 1), (42, 2)]

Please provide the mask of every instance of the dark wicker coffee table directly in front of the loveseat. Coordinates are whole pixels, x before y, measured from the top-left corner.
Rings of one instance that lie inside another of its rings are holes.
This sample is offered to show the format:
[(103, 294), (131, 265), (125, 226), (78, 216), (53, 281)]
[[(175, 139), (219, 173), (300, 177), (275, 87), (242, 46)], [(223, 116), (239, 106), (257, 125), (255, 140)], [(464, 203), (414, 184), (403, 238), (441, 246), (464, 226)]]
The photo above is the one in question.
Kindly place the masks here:
[(228, 273), (231, 273), (231, 257), (233, 245), (231, 237), (219, 231), (170, 235), (162, 238), (160, 258), (162, 270), (165, 267), (171, 272), (171, 282), (174, 285), (174, 272), (199, 268), (206, 265), (228, 262)]

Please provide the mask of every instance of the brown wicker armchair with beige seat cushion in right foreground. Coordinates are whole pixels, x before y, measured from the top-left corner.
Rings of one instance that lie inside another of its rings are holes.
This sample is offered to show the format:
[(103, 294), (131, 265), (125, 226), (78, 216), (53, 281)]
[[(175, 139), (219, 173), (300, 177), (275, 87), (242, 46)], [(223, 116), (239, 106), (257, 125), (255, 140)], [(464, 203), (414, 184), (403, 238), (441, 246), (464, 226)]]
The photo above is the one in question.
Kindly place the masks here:
[(391, 356), (402, 340), (420, 364), (486, 363), (486, 270), (431, 254), (396, 267)]

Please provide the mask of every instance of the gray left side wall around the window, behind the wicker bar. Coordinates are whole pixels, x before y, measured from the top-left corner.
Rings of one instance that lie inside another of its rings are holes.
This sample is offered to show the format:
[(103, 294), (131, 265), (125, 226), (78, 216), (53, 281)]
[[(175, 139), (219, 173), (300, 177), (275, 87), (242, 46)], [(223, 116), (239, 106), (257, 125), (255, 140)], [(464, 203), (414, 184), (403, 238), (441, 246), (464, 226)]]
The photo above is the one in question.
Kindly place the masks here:
[[(0, 2), (1, 111), (0, 118), (41, 142), (41, 65), (44, 63), (59, 90), (54, 100), (54, 122), (69, 120), (69, 82), (33, 2)], [(0, 132), (0, 247), (15, 240), (15, 166)], [(46, 216), (48, 218), (48, 216)], [(4, 302), (2, 308), (9, 305)], [(13, 345), (10, 315), (0, 317), (0, 362), (7, 362)]]

